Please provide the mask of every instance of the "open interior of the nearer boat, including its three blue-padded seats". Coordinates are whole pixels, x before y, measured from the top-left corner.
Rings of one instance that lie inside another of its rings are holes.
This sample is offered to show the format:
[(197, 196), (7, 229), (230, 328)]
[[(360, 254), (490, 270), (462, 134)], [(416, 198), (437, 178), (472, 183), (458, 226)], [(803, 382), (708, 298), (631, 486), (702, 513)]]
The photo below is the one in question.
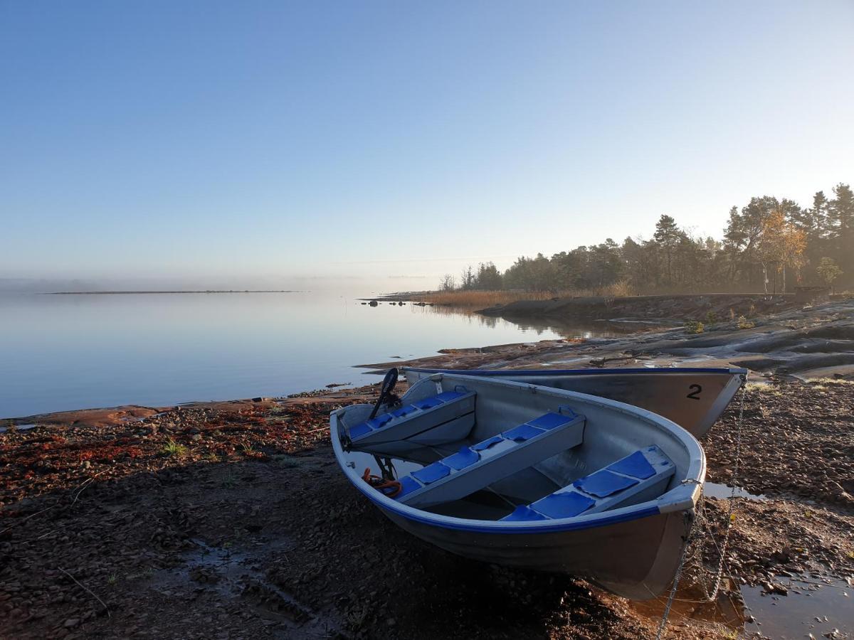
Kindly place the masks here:
[(437, 374), (373, 418), (367, 404), (336, 415), (347, 465), (398, 503), (540, 521), (654, 500), (686, 474), (678, 437), (608, 402)]

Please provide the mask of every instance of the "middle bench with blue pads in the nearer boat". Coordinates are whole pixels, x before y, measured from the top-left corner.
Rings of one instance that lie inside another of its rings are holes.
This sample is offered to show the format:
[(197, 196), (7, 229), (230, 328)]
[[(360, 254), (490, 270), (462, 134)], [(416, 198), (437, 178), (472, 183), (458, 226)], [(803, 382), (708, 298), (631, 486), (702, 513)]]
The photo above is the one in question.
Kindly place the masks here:
[(584, 424), (569, 407), (533, 418), (401, 477), (395, 500), (419, 509), (458, 500), (581, 445)]

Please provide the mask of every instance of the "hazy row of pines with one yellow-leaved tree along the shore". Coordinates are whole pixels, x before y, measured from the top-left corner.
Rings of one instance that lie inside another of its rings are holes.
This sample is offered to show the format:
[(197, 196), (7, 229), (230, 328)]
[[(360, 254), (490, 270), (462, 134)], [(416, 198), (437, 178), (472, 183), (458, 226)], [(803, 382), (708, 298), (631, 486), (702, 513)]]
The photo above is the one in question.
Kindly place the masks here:
[(620, 294), (758, 291), (795, 285), (854, 287), (854, 193), (839, 183), (811, 207), (769, 195), (732, 207), (722, 239), (695, 237), (669, 215), (649, 240), (607, 238), (550, 258), (522, 256), (503, 273), (492, 262), (442, 278), (442, 290), (524, 289)]

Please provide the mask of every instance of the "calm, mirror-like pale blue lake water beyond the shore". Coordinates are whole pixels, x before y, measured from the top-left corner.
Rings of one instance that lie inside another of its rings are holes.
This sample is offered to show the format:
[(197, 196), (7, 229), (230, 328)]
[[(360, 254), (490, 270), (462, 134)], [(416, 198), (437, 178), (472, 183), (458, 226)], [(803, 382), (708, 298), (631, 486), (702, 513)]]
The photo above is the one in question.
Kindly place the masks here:
[(355, 364), (591, 335), (331, 294), (0, 294), (0, 417), (282, 396), (378, 380)]

